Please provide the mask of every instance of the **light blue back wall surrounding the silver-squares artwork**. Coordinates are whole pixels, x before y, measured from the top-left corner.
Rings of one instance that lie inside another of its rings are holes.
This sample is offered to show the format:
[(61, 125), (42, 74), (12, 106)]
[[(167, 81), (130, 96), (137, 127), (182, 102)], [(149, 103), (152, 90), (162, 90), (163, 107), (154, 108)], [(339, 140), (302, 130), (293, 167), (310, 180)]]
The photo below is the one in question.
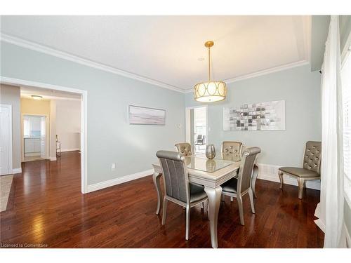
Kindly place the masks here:
[[(227, 85), (223, 102), (208, 104), (208, 142), (216, 151), (224, 140), (235, 140), (262, 149), (258, 161), (277, 166), (301, 166), (307, 140), (321, 140), (321, 100), (319, 72), (305, 65)], [(286, 101), (286, 130), (224, 131), (223, 107), (244, 103)], [(199, 105), (192, 93), (185, 98), (187, 107)]]

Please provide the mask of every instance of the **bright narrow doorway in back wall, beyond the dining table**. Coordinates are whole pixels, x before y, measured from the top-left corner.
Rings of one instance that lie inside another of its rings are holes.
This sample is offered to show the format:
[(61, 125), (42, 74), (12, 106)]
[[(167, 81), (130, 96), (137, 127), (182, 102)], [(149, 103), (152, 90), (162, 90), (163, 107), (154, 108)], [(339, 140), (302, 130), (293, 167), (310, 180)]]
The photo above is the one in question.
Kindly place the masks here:
[(208, 142), (207, 106), (185, 109), (185, 137), (194, 154), (204, 154)]

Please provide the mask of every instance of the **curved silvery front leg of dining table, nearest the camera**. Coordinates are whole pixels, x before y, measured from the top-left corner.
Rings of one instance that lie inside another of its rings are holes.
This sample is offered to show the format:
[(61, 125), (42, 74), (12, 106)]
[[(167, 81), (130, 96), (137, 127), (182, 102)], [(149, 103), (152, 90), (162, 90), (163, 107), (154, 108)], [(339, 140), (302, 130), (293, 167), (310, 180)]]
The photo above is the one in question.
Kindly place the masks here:
[(218, 211), (220, 208), (220, 196), (222, 194), (222, 187), (205, 187), (206, 194), (208, 196), (208, 217), (210, 220), (211, 229), (211, 244), (212, 248), (218, 248), (217, 240), (217, 222), (218, 222)]

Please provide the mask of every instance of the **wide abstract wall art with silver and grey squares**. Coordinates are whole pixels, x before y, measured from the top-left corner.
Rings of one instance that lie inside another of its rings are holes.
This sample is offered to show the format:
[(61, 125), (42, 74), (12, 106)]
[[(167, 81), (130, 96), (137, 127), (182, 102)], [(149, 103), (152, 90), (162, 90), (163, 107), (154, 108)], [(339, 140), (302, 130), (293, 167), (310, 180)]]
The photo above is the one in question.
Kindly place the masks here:
[(285, 130), (285, 100), (225, 107), (223, 130)]

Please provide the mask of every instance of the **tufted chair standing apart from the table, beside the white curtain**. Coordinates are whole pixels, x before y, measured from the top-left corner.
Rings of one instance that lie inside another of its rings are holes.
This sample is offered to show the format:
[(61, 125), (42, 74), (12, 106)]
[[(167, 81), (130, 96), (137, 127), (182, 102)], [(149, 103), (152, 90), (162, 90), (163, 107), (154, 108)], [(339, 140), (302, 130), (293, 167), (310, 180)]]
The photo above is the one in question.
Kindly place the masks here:
[(305, 155), (303, 156), (303, 168), (298, 167), (281, 167), (278, 170), (280, 189), (283, 189), (284, 173), (298, 179), (298, 198), (303, 198), (303, 187), (306, 180), (316, 180), (321, 177), (321, 142), (306, 142)]

